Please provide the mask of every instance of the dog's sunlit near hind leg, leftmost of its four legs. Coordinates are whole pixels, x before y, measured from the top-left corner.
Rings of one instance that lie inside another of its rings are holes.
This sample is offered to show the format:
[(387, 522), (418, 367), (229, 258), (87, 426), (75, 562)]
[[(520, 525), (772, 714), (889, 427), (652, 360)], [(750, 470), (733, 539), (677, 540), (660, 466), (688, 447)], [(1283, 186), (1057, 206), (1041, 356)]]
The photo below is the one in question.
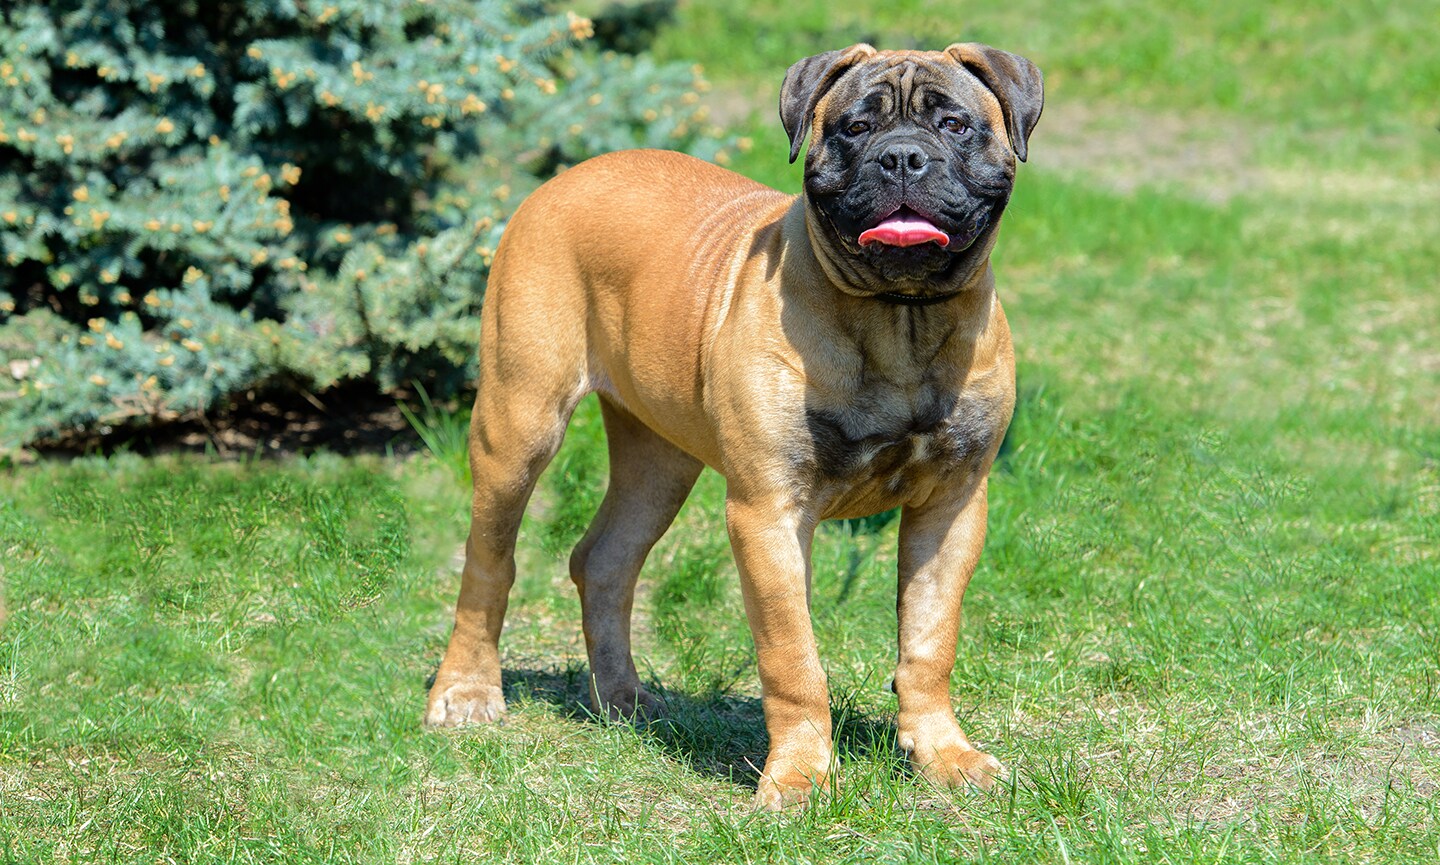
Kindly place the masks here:
[(576, 403), (590, 389), (583, 337), (563, 338), (583, 334), (583, 327), (543, 321), (523, 301), (494, 294), (487, 299), (469, 435), (469, 538), (455, 630), (425, 710), (429, 727), (494, 721), (505, 708), (500, 630), (516, 580), (520, 518), (536, 479), (564, 439)]

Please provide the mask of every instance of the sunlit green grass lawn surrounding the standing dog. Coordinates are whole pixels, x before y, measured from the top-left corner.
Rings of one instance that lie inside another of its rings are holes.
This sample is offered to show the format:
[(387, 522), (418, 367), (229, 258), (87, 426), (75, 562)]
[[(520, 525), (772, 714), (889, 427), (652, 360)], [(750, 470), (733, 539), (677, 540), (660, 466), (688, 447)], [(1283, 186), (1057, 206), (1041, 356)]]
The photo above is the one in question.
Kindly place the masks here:
[(894, 750), (877, 517), (816, 540), (838, 789), (750, 812), (766, 743), (713, 474), (636, 604), (670, 720), (589, 718), (563, 566), (603, 488), (586, 404), (521, 534), (510, 715), (452, 734), (420, 728), (468, 507), (444, 436), (0, 474), (0, 861), (1433, 861), (1433, 13), (721, 0), (661, 33), (753, 140), (732, 167), (788, 190), (772, 104), (802, 55), (978, 39), (1047, 72), (996, 250), (1020, 406), (953, 678), (1002, 792)]

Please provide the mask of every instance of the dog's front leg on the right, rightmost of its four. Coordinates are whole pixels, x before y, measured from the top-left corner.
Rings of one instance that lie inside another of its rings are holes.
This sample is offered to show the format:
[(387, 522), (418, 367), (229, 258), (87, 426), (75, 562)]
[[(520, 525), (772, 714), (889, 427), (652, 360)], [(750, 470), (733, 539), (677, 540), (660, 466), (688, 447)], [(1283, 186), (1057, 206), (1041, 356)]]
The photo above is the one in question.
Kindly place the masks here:
[(989, 789), (1005, 769), (976, 750), (950, 708), (960, 600), (985, 545), (986, 484), (900, 517), (899, 743), (916, 771), (943, 786)]

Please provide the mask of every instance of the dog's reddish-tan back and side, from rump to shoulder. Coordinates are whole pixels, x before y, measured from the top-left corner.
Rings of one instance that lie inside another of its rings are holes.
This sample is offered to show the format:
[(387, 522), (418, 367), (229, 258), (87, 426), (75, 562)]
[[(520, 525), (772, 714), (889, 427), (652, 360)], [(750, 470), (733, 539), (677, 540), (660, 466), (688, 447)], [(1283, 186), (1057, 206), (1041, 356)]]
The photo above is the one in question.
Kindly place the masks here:
[[(552, 358), (564, 368), (550, 381), (606, 394), (714, 466), (701, 366), (729, 302), (720, 289), (734, 282), (724, 273), (760, 253), (753, 225), (766, 219), (756, 214), (779, 219), (793, 200), (660, 150), (569, 168), (505, 229), (485, 296), (482, 374), (504, 374), (501, 353)], [(677, 235), (696, 245), (665, 243)], [(539, 384), (533, 367), (526, 376)]]

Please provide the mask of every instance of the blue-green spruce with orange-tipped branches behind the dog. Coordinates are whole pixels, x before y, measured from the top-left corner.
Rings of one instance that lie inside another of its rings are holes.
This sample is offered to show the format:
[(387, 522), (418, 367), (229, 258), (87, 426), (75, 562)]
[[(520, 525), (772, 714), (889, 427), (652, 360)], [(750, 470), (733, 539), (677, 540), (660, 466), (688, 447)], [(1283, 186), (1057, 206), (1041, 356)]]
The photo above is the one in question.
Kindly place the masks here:
[(660, 12), (6, 4), (0, 453), (265, 389), (452, 393), (526, 193), (626, 147), (726, 160), (700, 71), (638, 53)]

